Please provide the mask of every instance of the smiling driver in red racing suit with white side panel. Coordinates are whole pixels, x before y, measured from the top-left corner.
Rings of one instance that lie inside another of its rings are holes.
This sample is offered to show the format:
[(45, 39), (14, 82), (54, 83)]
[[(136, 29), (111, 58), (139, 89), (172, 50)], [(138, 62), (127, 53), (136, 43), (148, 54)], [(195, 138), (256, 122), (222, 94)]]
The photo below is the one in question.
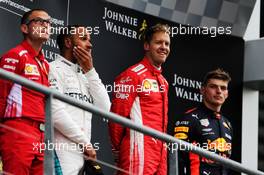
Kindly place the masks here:
[[(166, 133), (168, 83), (161, 74), (161, 65), (170, 53), (167, 25), (157, 24), (147, 30), (144, 50), (142, 61), (116, 78), (111, 111)], [(167, 175), (164, 142), (113, 122), (109, 123), (109, 132), (119, 168), (136, 175)]]

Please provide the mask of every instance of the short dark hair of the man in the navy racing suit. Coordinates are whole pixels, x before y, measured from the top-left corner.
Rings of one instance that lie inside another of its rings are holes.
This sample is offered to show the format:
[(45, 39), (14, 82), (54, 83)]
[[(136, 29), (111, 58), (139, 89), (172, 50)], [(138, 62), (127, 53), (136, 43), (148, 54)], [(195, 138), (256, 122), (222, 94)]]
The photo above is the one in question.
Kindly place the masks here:
[(210, 79), (223, 80), (223, 81), (227, 81), (228, 83), (231, 81), (231, 77), (229, 73), (224, 71), (222, 68), (217, 68), (215, 70), (208, 72), (204, 77), (202, 85), (206, 86)]

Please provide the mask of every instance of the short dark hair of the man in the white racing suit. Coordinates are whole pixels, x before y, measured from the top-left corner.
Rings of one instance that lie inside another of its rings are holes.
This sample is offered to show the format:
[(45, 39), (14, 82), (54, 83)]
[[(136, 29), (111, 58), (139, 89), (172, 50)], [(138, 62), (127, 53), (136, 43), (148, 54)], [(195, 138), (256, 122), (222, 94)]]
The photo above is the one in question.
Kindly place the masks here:
[(85, 27), (83, 25), (68, 25), (66, 27), (62, 27), (59, 31), (59, 34), (57, 36), (57, 44), (60, 48), (60, 51), (62, 51), (64, 49), (64, 40), (70, 36), (72, 36), (72, 32), (71, 30), (75, 29), (75, 28), (79, 28), (79, 27)]

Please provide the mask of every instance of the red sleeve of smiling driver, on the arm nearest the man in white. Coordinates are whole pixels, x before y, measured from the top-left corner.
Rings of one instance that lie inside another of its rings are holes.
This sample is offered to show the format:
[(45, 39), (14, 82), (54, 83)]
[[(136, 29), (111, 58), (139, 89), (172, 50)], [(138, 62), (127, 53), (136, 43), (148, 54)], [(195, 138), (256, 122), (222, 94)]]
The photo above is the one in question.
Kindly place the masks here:
[[(137, 95), (137, 77), (132, 72), (123, 72), (114, 82), (111, 112), (129, 118), (131, 107)], [(113, 150), (119, 150), (125, 134), (121, 125), (109, 122), (109, 133)]]

